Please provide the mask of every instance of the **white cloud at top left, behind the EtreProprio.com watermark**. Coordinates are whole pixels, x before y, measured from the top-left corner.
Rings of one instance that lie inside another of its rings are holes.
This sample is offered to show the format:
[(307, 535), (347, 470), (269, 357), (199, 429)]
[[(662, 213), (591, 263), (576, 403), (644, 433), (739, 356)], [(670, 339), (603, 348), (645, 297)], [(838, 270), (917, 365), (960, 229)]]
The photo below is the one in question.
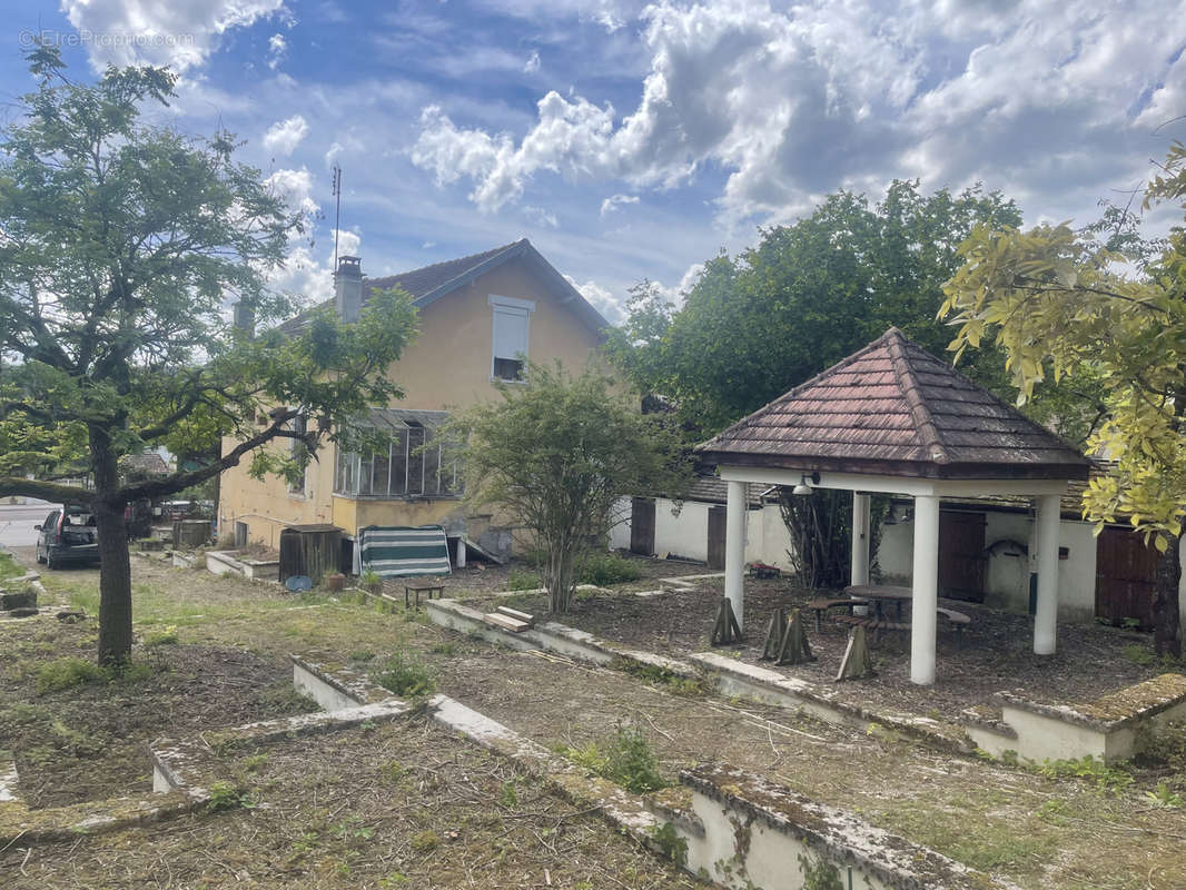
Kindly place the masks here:
[(283, 0), (60, 0), (79, 32), (90, 34), (91, 65), (200, 66), (222, 36), (280, 13)]

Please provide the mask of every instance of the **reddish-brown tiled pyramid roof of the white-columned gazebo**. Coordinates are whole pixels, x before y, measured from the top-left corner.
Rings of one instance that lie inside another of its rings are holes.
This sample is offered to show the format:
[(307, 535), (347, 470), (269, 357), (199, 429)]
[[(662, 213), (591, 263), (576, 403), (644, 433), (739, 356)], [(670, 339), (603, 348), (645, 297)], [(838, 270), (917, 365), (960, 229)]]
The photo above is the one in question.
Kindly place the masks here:
[(696, 446), (718, 464), (927, 478), (1086, 478), (1077, 449), (897, 328)]

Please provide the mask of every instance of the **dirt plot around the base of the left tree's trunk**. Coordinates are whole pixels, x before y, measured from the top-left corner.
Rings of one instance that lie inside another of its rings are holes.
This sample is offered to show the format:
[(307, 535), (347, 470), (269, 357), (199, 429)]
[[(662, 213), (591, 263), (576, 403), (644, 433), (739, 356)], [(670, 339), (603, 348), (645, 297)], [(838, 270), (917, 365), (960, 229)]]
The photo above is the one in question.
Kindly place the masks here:
[(141, 646), (122, 676), (39, 691), (53, 662), (91, 666), (95, 634), (94, 621), (52, 617), (0, 628), (0, 750), (13, 752), (33, 808), (151, 790), (147, 745), (158, 736), (315, 710), (293, 692), (286, 661), (225, 646)]

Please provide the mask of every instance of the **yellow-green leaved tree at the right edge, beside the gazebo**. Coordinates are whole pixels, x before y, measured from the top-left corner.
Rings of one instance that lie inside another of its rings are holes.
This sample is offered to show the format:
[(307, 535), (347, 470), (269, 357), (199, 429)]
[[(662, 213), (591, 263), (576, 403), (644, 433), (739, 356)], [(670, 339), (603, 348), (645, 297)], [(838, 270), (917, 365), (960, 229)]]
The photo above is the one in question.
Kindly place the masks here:
[[(1144, 193), (1146, 208), (1186, 208), (1186, 147), (1175, 144)], [(1116, 216), (1112, 214), (1112, 222)], [(977, 228), (946, 286), (942, 314), (959, 325), (957, 355), (1000, 347), (1026, 402), (1067, 375), (1099, 381), (1105, 408), (1090, 447), (1109, 460), (1084, 495), (1084, 516), (1127, 517), (1161, 553), (1154, 640), (1181, 654), (1178, 590), (1186, 513), (1186, 229), (1160, 253), (1121, 221), (1076, 233), (1067, 225)]]

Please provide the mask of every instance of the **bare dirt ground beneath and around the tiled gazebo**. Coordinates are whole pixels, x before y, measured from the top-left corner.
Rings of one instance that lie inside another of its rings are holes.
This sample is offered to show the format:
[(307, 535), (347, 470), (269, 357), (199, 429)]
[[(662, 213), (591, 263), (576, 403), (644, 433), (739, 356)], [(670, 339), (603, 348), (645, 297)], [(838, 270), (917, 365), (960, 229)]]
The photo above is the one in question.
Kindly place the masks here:
[[(745, 584), (746, 638), (723, 650), (739, 654), (750, 663), (772, 667), (771, 662), (759, 660), (771, 615), (778, 608), (790, 615), (816, 593), (778, 579), (746, 579)], [(581, 595), (572, 612), (556, 619), (604, 640), (680, 657), (712, 648), (709, 635), (722, 595), (723, 584), (712, 580), (701, 581), (695, 591), (649, 598), (618, 591)], [(516, 597), (516, 602), (537, 615), (548, 608), (547, 599), (540, 596)], [(1028, 616), (973, 603), (943, 600), (942, 604), (970, 616), (971, 624), (964, 628), (962, 643), (957, 643), (955, 630), (940, 619), (935, 686), (910, 682), (910, 636), (894, 632), (886, 634), (875, 646), (871, 637), (876, 676), (849, 682), (846, 692), (874, 708), (955, 719), (970, 705), (991, 705), (993, 693), (1002, 689), (1053, 704), (1086, 703), (1166, 669), (1182, 668), (1154, 659), (1147, 635), (1098, 625), (1059, 624), (1058, 654), (1037, 656)], [(817, 661), (774, 669), (831, 685), (843, 657), (847, 628), (825, 619), (822, 631), (817, 631), (814, 614), (806, 611), (804, 618)]]

